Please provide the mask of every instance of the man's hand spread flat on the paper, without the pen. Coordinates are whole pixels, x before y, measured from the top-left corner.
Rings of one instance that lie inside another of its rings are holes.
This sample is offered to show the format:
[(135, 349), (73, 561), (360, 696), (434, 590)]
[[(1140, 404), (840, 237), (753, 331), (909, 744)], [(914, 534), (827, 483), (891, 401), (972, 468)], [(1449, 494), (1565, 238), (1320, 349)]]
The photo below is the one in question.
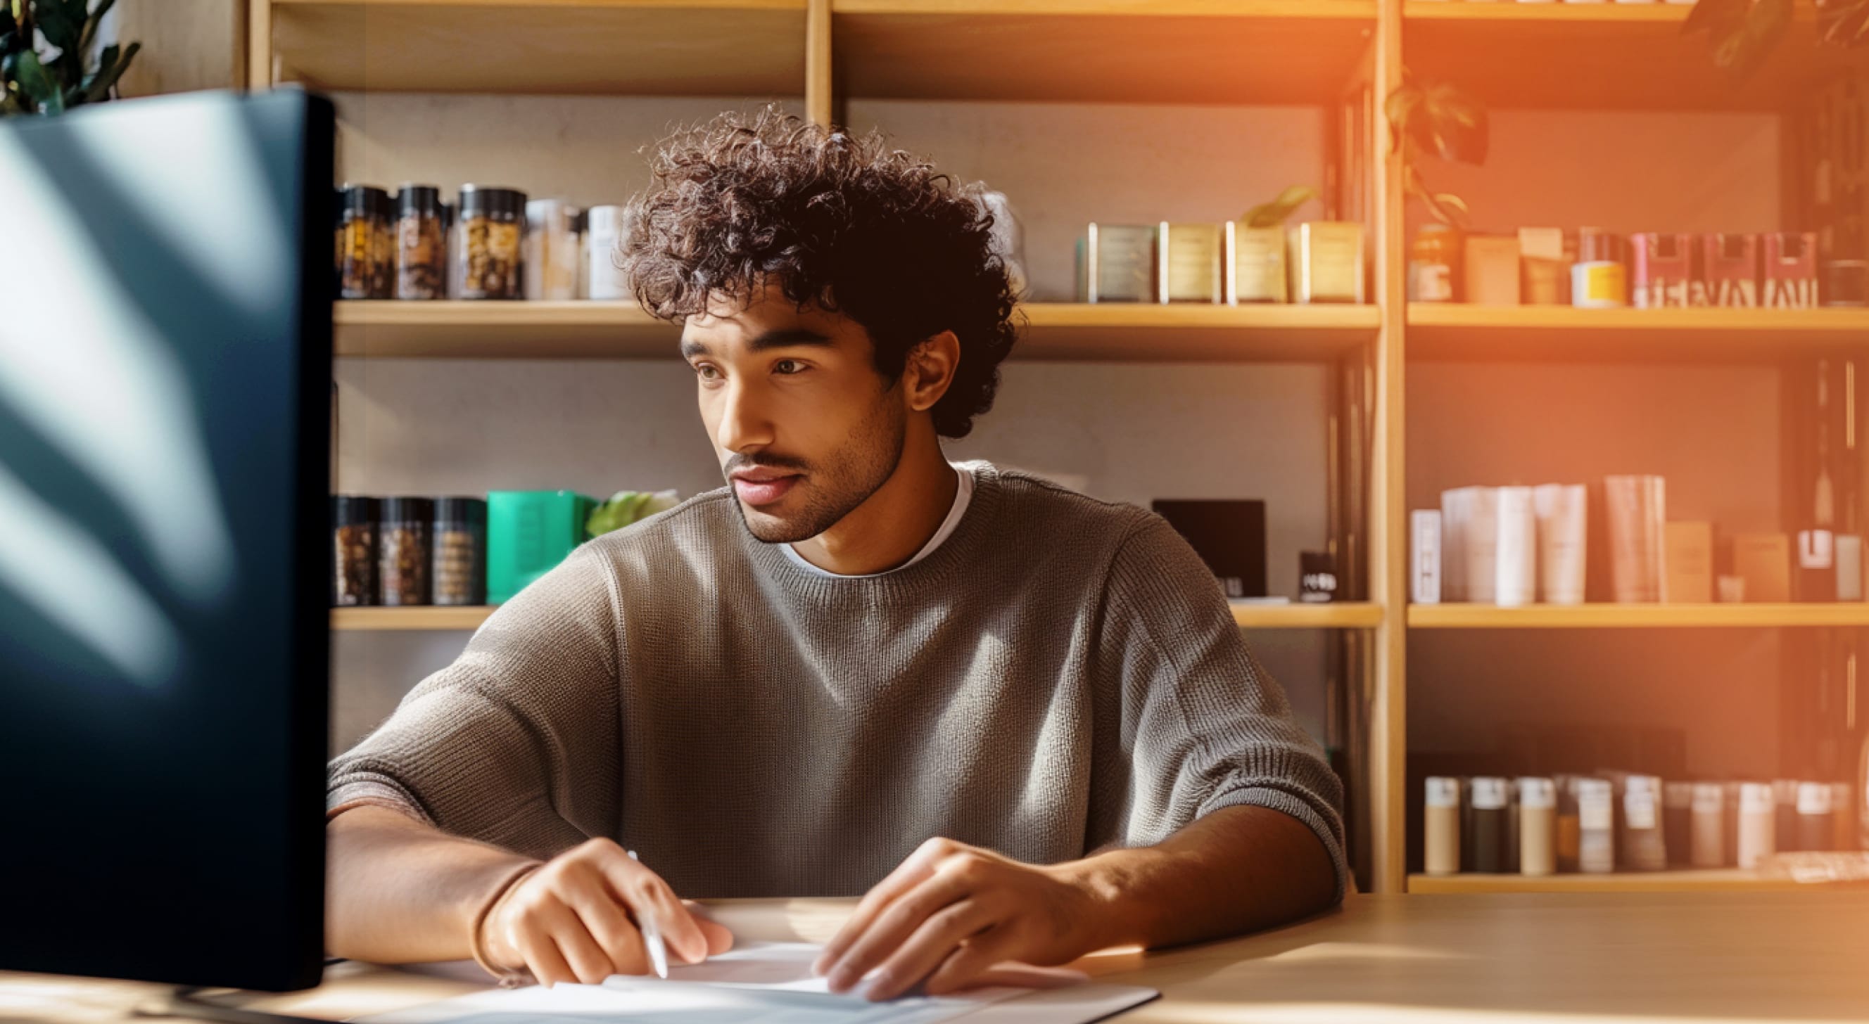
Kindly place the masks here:
[(931, 996), (989, 979), (1002, 960), (1065, 964), (1095, 951), (1103, 901), (1058, 867), (929, 839), (878, 882), (813, 964), (847, 992), (890, 1000), (918, 981)]

